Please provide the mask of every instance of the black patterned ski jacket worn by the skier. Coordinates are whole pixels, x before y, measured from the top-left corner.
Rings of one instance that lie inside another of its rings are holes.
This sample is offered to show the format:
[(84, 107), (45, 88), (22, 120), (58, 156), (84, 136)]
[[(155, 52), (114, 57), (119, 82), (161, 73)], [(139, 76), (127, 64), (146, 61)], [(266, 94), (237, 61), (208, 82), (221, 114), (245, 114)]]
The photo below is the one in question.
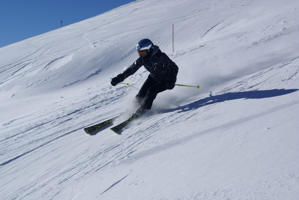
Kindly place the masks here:
[(150, 76), (160, 82), (176, 82), (179, 68), (165, 53), (161, 52), (158, 46), (154, 45), (152, 56), (149, 59), (139, 57), (129, 68), (117, 77), (120, 82), (134, 74), (141, 66), (150, 72)]

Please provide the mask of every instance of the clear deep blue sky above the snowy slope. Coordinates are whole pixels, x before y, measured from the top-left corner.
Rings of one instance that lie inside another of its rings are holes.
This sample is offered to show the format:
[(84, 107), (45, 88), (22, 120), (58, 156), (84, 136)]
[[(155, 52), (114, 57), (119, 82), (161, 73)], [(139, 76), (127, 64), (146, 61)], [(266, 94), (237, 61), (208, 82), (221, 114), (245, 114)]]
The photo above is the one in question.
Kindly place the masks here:
[(0, 48), (134, 0), (0, 0)]

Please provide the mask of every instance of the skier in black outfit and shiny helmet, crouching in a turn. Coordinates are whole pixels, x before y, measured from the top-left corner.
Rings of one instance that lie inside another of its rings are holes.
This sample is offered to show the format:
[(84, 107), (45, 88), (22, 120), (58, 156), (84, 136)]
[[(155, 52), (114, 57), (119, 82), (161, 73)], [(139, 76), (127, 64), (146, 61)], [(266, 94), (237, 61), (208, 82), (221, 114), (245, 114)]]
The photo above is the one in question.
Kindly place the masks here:
[(140, 116), (152, 108), (152, 102), (158, 93), (174, 88), (179, 68), (149, 39), (140, 40), (136, 50), (139, 58), (123, 73), (112, 78), (111, 85), (116, 86), (134, 74), (142, 65), (150, 72), (147, 80), (135, 97), (140, 106), (134, 114)]

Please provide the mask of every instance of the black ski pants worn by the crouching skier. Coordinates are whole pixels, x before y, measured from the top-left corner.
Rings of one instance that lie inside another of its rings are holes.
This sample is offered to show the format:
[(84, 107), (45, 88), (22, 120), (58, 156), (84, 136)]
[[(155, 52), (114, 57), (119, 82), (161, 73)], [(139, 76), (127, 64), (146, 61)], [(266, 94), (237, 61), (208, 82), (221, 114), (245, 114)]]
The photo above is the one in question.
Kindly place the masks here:
[(167, 90), (166, 82), (158, 82), (149, 75), (136, 95), (136, 99), (141, 103), (141, 108), (148, 110), (152, 108), (152, 102), (155, 100), (157, 94), (165, 90)]

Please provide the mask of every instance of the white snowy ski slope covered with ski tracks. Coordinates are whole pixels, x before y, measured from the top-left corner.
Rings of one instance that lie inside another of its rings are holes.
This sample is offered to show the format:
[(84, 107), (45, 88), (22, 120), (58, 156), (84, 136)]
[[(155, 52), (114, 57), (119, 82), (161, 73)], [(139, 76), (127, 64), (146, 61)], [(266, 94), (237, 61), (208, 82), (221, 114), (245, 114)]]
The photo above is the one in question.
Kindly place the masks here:
[[(0, 48), (0, 199), (299, 199), (299, 2), (141, 0)], [(172, 53), (172, 24), (175, 52)], [(176, 86), (121, 135), (151, 39)]]

